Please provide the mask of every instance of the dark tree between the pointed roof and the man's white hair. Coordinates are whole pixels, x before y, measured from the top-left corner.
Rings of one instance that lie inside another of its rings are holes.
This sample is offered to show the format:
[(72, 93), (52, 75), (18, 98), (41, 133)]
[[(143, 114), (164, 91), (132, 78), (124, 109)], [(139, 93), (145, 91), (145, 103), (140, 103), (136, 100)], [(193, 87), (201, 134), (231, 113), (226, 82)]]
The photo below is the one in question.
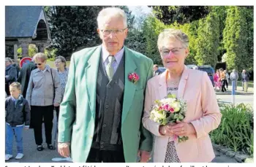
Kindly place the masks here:
[(101, 44), (97, 15), (104, 6), (56, 6), (45, 9), (56, 55), (68, 57), (83, 47)]

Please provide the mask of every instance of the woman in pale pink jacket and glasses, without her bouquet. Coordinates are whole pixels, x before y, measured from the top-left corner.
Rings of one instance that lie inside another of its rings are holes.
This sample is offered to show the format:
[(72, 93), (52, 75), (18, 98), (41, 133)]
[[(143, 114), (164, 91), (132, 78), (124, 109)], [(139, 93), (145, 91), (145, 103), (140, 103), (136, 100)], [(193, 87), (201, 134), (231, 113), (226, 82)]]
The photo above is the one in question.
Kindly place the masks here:
[[(154, 162), (211, 162), (214, 150), (208, 133), (218, 127), (222, 114), (211, 80), (204, 71), (184, 65), (189, 55), (189, 39), (179, 30), (167, 29), (159, 34), (158, 49), (164, 73), (148, 80), (143, 125), (155, 136)], [(151, 106), (167, 94), (187, 101), (186, 117), (181, 123), (159, 125), (149, 118)], [(173, 136), (188, 136), (178, 143)]]

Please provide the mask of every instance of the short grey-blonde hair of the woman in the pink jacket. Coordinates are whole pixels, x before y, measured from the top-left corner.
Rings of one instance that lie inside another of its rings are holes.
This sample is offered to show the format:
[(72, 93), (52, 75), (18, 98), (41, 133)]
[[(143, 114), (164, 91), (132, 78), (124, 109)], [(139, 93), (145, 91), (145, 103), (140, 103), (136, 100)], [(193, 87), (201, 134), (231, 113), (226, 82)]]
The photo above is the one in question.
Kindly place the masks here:
[(159, 34), (157, 40), (157, 47), (159, 50), (162, 49), (162, 45), (166, 39), (178, 39), (183, 45), (183, 47), (189, 47), (189, 37), (187, 36), (187, 34), (184, 34), (184, 32), (182, 32), (181, 30), (170, 28), (162, 31), (162, 33)]

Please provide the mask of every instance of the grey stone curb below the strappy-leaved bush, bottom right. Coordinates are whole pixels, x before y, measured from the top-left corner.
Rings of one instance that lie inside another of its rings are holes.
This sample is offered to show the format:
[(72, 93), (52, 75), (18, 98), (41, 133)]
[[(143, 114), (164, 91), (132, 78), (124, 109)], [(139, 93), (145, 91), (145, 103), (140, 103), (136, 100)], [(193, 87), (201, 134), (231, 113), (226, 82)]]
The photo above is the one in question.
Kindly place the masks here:
[(251, 156), (245, 155), (243, 152), (234, 152), (230, 148), (223, 147), (221, 145), (214, 144), (214, 143), (212, 143), (212, 146), (214, 147), (214, 149), (221, 152), (223, 155), (226, 155), (229, 158), (235, 159), (238, 163), (244, 163), (248, 159), (253, 160)]

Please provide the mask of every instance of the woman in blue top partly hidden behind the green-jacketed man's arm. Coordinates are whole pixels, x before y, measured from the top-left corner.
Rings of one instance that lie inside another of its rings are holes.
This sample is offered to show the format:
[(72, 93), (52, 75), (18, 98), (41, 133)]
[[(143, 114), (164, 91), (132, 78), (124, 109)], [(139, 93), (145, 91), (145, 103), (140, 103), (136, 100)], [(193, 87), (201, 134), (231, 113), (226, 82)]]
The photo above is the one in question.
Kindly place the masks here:
[[(61, 80), (61, 101), (64, 96), (66, 84), (67, 84), (67, 76), (69, 74), (69, 69), (67, 69), (66, 59), (62, 56), (58, 56), (55, 59), (55, 66), (58, 71), (59, 79)], [(59, 120), (59, 106), (55, 107), (57, 121)]]

